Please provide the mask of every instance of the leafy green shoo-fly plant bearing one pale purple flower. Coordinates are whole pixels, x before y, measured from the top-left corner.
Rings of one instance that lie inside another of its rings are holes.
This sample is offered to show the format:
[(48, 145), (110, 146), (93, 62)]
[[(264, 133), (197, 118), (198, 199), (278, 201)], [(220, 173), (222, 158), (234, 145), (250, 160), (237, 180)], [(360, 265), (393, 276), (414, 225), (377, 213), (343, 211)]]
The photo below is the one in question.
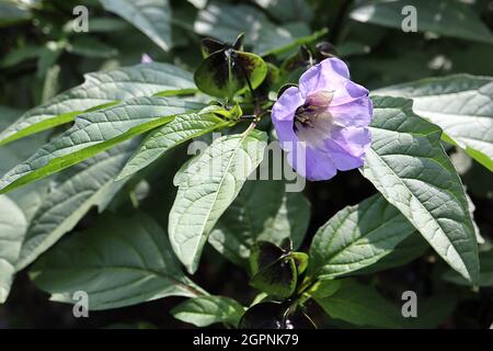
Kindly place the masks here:
[(472, 5), (428, 23), (443, 1), (411, 1), (437, 39), (376, 26), (405, 1), (101, 0), (77, 35), (47, 2), (22, 7), (46, 43), (0, 45), (0, 309), (27, 272), (46, 308), (177, 296), (156, 308), (177, 325), (463, 326), (463, 301), (491, 324), (493, 78), (461, 63), (493, 36)]

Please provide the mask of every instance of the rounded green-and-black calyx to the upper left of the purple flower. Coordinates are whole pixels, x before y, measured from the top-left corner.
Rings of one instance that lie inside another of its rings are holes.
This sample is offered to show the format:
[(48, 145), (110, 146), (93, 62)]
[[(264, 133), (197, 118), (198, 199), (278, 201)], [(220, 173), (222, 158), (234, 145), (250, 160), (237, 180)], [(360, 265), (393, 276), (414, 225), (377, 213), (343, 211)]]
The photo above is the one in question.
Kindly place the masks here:
[(257, 55), (223, 49), (207, 56), (194, 75), (200, 91), (232, 99), (237, 93), (259, 88), (267, 76), (267, 65)]

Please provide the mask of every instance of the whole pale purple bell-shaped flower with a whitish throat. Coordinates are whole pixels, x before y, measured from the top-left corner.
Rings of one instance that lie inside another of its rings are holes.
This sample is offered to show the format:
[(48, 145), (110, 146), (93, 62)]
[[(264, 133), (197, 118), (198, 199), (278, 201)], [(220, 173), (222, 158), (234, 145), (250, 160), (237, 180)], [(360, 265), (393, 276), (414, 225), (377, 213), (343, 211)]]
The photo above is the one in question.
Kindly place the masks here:
[(333, 57), (308, 69), (272, 111), (289, 165), (312, 181), (364, 163), (371, 115), (368, 90), (351, 81), (347, 66)]

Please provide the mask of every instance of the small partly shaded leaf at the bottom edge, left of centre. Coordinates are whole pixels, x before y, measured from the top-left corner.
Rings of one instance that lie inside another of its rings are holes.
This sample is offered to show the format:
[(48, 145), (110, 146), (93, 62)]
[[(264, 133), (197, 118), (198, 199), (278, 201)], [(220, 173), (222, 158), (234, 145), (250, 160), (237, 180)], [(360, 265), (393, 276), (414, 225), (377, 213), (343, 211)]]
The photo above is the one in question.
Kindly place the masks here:
[(217, 322), (238, 327), (244, 308), (238, 302), (225, 296), (198, 296), (190, 298), (171, 310), (174, 318), (197, 327)]

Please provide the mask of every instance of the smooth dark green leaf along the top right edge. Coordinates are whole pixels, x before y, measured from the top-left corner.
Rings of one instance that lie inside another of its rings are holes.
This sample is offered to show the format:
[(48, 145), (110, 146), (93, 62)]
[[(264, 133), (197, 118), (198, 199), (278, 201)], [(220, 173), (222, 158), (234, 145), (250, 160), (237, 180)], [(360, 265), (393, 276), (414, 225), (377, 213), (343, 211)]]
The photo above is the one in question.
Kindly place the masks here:
[(470, 4), (458, 0), (395, 0), (362, 4), (349, 13), (349, 18), (364, 22), (399, 29), (409, 24), (409, 12), (404, 7), (415, 8), (416, 29), (437, 34), (484, 43), (493, 43), (493, 36)]

